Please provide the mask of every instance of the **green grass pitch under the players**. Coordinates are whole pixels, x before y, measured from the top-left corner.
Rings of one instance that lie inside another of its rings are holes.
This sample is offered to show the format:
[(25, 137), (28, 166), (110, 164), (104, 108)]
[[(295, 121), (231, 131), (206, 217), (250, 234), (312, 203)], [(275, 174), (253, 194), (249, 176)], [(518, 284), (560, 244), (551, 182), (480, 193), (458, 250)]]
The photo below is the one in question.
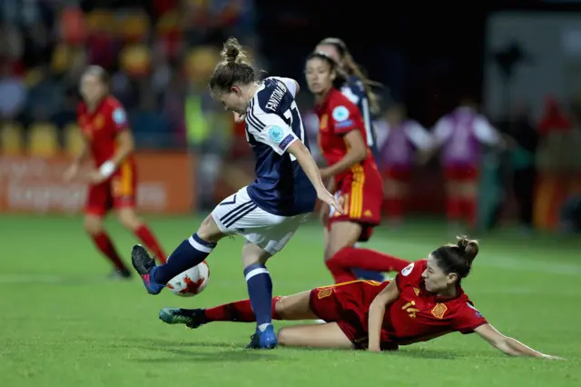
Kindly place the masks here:
[[(198, 217), (149, 218), (164, 248), (195, 232)], [(133, 235), (107, 223), (129, 263)], [(410, 260), (451, 242), (443, 223), (379, 228), (369, 246)], [(246, 298), (241, 239), (225, 239), (208, 263), (199, 296), (145, 293), (139, 280), (107, 282), (109, 266), (77, 217), (0, 217), (0, 385), (25, 386), (352, 386), (581, 385), (581, 238), (475, 235), (481, 254), (465, 290), (490, 323), (565, 362), (509, 358), (474, 334), (450, 334), (397, 353), (278, 348), (244, 350), (252, 324), (199, 330), (161, 323), (162, 306), (203, 307)], [(308, 224), (271, 260), (275, 294), (330, 284), (321, 228)], [(277, 323), (281, 327), (284, 323)]]

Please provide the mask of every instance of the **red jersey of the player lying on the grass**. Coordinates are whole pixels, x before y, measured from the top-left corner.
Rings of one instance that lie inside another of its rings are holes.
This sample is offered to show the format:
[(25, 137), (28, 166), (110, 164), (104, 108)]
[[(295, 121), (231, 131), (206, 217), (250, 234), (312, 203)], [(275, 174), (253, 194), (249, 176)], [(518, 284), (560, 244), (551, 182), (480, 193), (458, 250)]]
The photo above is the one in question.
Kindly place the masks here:
[(425, 342), (449, 332), (472, 333), (487, 323), (461, 287), (453, 298), (428, 293), (421, 277), (427, 264), (410, 263), (396, 277), (399, 298), (385, 314), (381, 342)]

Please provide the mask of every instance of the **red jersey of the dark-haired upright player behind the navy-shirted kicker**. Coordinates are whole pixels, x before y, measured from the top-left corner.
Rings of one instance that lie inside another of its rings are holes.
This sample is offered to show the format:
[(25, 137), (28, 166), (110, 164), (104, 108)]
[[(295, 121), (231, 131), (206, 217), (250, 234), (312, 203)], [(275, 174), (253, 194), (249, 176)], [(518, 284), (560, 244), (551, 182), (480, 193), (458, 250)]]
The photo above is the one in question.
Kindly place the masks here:
[[(377, 170), (377, 165), (367, 145), (365, 124), (356, 104), (353, 104), (339, 90), (331, 88), (323, 102), (316, 106), (315, 111), (319, 116), (319, 147), (327, 164), (336, 164), (345, 157), (349, 148), (343, 135), (357, 130), (367, 146), (367, 157), (357, 166), (358, 168), (362, 166), (363, 170), (369, 167)], [(341, 181), (353, 174), (352, 170), (353, 168), (335, 175), (335, 183), (338, 187)]]

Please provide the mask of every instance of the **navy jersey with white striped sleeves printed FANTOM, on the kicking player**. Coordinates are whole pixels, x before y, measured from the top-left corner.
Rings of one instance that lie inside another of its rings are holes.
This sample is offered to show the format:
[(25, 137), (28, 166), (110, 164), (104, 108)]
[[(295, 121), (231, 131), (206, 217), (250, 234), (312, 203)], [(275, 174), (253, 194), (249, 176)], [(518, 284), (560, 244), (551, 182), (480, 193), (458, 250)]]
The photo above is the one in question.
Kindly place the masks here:
[(295, 141), (309, 148), (299, 109), (287, 85), (267, 78), (246, 110), (246, 139), (256, 157), (252, 201), (268, 213), (293, 216), (315, 209), (317, 193), (292, 154)]

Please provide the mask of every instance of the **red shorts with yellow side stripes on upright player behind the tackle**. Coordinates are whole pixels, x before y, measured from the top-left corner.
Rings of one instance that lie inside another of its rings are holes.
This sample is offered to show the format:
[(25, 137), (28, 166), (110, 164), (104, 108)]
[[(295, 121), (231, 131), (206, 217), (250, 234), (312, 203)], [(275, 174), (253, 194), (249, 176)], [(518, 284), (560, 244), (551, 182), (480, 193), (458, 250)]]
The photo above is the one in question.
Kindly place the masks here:
[(359, 166), (341, 182), (335, 197), (342, 198), (345, 213), (338, 213), (331, 208), (328, 229), (333, 222), (359, 223), (363, 227), (359, 241), (368, 241), (373, 227), (381, 222), (383, 182), (377, 168)]

